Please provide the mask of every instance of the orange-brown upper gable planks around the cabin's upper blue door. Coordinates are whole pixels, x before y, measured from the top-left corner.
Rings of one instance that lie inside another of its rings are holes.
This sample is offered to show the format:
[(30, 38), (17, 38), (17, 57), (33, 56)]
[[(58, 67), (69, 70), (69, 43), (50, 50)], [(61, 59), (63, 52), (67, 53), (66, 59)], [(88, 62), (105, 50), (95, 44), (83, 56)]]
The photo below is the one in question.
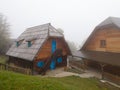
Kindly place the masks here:
[(52, 40), (56, 40), (57, 42), (57, 49), (62, 49), (62, 55), (65, 56), (69, 54), (68, 47), (66, 46), (64, 40), (62, 38), (49, 38), (42, 48), (40, 49), (40, 52), (38, 53), (37, 60), (39, 59), (44, 59), (44, 58), (49, 58), (51, 56), (51, 43)]

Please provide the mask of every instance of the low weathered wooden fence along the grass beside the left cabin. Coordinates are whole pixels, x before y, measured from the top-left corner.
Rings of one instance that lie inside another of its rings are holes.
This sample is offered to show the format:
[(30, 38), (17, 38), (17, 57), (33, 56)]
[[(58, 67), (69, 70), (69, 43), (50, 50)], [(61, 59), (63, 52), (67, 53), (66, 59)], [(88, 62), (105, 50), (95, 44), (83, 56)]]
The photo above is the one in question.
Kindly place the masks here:
[(14, 71), (14, 72), (27, 74), (27, 75), (32, 74), (31, 69), (27, 69), (27, 68), (25, 69), (25, 68), (20, 68), (20, 67), (16, 67), (16, 66), (10, 66), (10, 65), (6, 65), (6, 64), (2, 64), (2, 63), (0, 63), (0, 70)]

